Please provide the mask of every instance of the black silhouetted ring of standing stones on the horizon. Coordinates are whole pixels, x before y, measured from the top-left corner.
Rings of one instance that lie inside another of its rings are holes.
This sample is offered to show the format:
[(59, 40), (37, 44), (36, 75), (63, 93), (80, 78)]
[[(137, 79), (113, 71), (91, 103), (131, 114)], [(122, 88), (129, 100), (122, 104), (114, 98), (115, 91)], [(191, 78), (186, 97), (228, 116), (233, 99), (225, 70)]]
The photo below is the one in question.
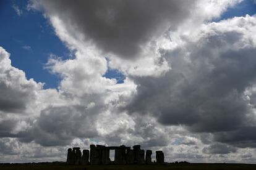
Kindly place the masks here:
[[(67, 150), (67, 164), (151, 164), (152, 151), (140, 149), (140, 145), (134, 145), (134, 150), (121, 145), (119, 147), (106, 147), (104, 145), (90, 145), (89, 150), (83, 150), (83, 155), (79, 147)], [(115, 150), (114, 161), (109, 159), (109, 150)], [(90, 153), (90, 154), (89, 154)], [(155, 161), (154, 161), (155, 162)], [(156, 163), (164, 163), (164, 153), (156, 151)]]

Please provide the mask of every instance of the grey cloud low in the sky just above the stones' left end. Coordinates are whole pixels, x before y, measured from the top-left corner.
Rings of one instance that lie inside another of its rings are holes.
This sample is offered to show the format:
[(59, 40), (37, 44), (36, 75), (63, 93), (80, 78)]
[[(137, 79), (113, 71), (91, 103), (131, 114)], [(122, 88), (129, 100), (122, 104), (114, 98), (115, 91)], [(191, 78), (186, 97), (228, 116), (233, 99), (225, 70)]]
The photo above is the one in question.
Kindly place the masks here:
[(75, 137), (95, 137), (95, 116), (95, 109), (79, 105), (49, 107), (41, 111), (28, 137), (43, 146), (68, 145)]

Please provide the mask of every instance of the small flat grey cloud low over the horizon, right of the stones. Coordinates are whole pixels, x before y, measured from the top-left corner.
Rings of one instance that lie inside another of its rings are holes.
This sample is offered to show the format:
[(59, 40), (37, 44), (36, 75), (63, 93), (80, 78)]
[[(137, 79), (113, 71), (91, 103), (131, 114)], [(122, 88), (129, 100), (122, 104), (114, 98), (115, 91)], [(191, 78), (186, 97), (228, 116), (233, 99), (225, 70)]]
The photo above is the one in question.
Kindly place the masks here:
[(228, 154), (236, 152), (237, 148), (226, 144), (212, 144), (209, 147), (204, 147), (202, 152), (206, 154)]

